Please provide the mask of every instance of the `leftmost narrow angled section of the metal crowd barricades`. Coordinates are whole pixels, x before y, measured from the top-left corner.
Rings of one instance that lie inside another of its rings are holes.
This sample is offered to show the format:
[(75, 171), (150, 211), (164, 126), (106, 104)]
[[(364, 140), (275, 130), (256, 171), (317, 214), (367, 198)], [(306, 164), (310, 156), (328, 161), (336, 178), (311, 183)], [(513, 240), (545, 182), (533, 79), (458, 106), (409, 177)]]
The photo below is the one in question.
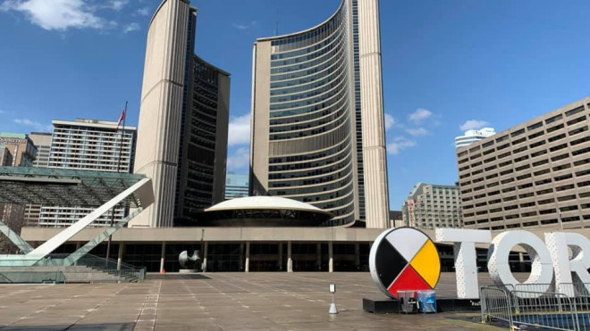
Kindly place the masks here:
[(501, 320), (512, 326), (512, 306), (509, 291), (503, 286), (485, 286), (479, 291), (482, 307), (482, 323)]

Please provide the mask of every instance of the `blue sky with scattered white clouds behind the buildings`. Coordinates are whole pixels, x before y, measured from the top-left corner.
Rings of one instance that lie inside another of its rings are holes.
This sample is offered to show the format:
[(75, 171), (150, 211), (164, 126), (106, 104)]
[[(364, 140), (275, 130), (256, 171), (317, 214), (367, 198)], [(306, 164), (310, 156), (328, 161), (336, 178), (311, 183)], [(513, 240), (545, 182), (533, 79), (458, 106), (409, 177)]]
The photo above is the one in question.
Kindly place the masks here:
[[(228, 167), (248, 171), (252, 44), (307, 29), (340, 0), (201, 0), (196, 52), (232, 74)], [(0, 131), (139, 118), (156, 0), (0, 0)], [(312, 10), (309, 10), (312, 8)], [(278, 15), (277, 15), (278, 10)], [(457, 179), (461, 128), (500, 131), (590, 95), (590, 2), (381, 1), (392, 209)]]

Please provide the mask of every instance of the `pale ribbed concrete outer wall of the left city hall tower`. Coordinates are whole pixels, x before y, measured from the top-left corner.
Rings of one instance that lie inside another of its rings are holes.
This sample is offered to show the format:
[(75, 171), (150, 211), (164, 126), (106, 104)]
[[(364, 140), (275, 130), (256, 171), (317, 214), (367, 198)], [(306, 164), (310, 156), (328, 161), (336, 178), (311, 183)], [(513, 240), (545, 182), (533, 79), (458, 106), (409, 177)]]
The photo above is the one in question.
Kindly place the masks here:
[(172, 227), (189, 2), (164, 0), (147, 31), (135, 172), (154, 180), (156, 202), (131, 227)]

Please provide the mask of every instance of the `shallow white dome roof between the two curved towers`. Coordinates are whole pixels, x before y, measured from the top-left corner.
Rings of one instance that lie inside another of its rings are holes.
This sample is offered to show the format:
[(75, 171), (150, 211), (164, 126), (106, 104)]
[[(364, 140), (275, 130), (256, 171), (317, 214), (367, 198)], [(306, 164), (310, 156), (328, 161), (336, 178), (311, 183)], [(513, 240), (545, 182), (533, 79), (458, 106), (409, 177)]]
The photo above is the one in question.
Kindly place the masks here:
[(232, 211), (232, 210), (252, 210), (252, 209), (280, 209), (293, 211), (315, 211), (329, 214), (328, 211), (312, 206), (308, 203), (300, 203), (299, 201), (282, 198), (279, 196), (246, 196), (243, 198), (236, 198), (223, 203), (217, 203), (214, 206), (207, 208), (205, 211)]

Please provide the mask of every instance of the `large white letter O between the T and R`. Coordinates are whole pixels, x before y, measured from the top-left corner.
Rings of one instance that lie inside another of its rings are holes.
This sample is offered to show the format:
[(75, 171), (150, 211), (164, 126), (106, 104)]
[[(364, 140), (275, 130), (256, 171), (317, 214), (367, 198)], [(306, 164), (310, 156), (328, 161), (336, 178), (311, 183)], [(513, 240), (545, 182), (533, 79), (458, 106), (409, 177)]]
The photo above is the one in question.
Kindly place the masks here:
[[(531, 274), (524, 283), (512, 275), (510, 271), (510, 249), (516, 245), (523, 247), (531, 258)], [(487, 269), (490, 277), (497, 285), (532, 284), (535, 288), (527, 288), (526, 291), (546, 292), (553, 280), (553, 266), (551, 253), (544, 242), (532, 233), (524, 230), (504, 232), (493, 238), (488, 252)], [(515, 288), (518, 290), (518, 288)], [(518, 293), (517, 293), (518, 294)], [(518, 294), (521, 297), (538, 297), (541, 294)]]

